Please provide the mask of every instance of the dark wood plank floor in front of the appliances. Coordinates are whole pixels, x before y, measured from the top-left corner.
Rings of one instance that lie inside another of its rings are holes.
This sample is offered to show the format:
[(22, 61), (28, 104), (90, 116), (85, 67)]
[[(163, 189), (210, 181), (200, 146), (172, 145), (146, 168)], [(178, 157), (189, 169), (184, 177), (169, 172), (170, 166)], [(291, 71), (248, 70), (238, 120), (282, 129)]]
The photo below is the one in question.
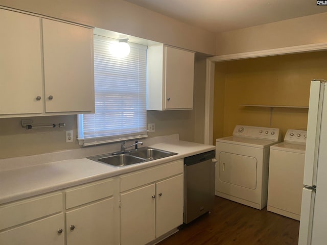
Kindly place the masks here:
[(204, 214), (159, 245), (297, 245), (299, 222), (215, 197), (212, 213)]

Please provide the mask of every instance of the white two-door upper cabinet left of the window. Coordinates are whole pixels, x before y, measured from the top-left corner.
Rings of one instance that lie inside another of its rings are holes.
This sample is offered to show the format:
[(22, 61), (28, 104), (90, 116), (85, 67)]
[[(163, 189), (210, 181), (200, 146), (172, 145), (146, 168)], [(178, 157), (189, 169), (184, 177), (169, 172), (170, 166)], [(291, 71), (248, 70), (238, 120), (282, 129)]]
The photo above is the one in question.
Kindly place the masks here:
[(0, 117), (92, 113), (93, 30), (0, 9)]

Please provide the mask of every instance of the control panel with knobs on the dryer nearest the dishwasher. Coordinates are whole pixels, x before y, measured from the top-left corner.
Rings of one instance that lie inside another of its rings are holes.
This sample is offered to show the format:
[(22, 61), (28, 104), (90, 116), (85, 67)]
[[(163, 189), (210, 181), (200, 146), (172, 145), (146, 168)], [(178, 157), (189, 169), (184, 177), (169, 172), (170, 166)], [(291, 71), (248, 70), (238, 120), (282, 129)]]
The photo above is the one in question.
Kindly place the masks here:
[(233, 136), (247, 136), (271, 140), (281, 139), (281, 133), (279, 132), (279, 129), (244, 125), (237, 125), (233, 131)]

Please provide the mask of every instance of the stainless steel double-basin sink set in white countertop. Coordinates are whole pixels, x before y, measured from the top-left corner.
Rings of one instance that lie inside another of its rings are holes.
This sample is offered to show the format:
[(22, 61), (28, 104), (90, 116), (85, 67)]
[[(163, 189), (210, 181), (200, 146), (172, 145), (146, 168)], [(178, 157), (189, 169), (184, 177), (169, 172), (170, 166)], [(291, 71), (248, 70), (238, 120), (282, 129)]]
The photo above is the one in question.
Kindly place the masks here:
[(173, 155), (177, 155), (177, 153), (142, 147), (137, 151), (133, 150), (127, 152), (109, 153), (87, 158), (97, 162), (106, 163), (114, 167), (124, 167), (131, 164), (148, 162)]

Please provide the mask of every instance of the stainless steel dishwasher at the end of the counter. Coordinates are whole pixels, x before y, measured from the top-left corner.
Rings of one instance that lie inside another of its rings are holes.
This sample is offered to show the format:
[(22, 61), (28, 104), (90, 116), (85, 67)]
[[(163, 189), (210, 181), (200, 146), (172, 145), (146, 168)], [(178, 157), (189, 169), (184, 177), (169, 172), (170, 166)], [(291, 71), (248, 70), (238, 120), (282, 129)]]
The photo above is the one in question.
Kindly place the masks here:
[(184, 158), (185, 224), (211, 211), (215, 201), (215, 151)]

